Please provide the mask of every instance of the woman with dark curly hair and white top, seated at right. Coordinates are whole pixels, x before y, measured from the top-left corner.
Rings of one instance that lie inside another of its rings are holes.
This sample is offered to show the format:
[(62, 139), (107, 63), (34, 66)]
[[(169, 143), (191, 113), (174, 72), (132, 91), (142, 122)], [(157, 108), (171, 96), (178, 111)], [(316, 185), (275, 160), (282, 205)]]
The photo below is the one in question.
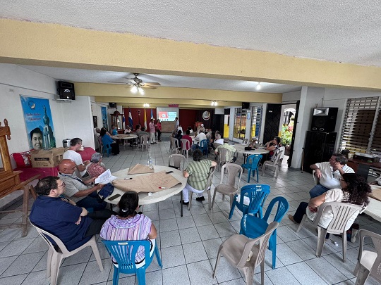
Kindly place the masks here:
[[(294, 215), (289, 215), (289, 219), (300, 224), (303, 215), (306, 214), (310, 220), (314, 220), (319, 205), (325, 202), (342, 202), (361, 205), (363, 206), (363, 210), (361, 210), (362, 213), (369, 204), (368, 194), (372, 191), (365, 179), (356, 173), (344, 173), (340, 178), (340, 186), (341, 189), (330, 189), (320, 196), (311, 198), (308, 203), (301, 202), (296, 209), (296, 213)], [(351, 219), (349, 219), (345, 227), (346, 230), (351, 227), (358, 214), (359, 213), (353, 214)], [(325, 208), (319, 226), (327, 228), (332, 221), (332, 218), (332, 210)], [(328, 235), (326, 236), (326, 239), (328, 239)]]

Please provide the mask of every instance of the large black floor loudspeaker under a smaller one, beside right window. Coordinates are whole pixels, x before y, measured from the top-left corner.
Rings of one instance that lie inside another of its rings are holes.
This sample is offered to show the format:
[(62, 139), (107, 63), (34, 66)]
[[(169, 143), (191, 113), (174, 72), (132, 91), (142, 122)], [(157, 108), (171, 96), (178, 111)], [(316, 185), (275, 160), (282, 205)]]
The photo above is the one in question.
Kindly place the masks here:
[(334, 153), (336, 132), (306, 132), (304, 144), (303, 171), (312, 173), (310, 165), (328, 161)]

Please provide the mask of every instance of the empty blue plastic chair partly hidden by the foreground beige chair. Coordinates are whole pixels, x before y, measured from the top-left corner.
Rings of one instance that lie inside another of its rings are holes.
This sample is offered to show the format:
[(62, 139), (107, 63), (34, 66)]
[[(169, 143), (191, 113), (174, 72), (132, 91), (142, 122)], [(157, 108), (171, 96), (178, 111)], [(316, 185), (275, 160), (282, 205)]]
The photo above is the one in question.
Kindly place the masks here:
[[(278, 203), (278, 208), (277, 213), (275, 213), (274, 222), (281, 222), (284, 214), (289, 210), (289, 202), (287, 202), (284, 197), (279, 196), (272, 199), (263, 219), (250, 215), (243, 215), (239, 234), (244, 234), (250, 239), (256, 239), (258, 236), (265, 234), (267, 227), (272, 222), (269, 221), (269, 217), (275, 203)], [(277, 229), (275, 229), (270, 236), (269, 249), (272, 251), (272, 269), (275, 269), (275, 262), (277, 261)]]

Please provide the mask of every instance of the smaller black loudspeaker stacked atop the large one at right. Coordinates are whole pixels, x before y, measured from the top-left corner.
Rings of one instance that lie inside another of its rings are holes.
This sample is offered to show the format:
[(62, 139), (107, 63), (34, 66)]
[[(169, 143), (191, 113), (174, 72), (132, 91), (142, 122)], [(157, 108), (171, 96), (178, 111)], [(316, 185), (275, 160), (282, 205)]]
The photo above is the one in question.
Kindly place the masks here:
[(311, 131), (334, 132), (339, 108), (314, 108)]

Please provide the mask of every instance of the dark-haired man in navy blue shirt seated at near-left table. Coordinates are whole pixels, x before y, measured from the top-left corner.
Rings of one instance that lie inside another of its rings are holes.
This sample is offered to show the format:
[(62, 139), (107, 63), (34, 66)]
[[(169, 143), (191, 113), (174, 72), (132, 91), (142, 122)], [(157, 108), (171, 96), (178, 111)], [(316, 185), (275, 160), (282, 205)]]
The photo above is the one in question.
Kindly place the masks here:
[[(30, 222), (61, 239), (68, 251), (85, 244), (99, 234), (104, 222), (111, 217), (110, 210), (102, 210), (93, 218), (87, 210), (60, 196), (65, 183), (59, 177), (44, 177), (35, 186), (38, 195), (30, 212)], [(95, 214), (95, 213), (93, 213)]]

